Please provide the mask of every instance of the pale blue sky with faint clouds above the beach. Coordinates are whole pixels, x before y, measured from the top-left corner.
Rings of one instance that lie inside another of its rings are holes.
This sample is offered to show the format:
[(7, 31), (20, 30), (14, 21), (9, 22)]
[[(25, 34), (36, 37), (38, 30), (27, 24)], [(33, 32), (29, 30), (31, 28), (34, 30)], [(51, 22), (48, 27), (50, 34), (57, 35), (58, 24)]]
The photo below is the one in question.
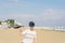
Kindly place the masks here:
[(24, 26), (65, 26), (65, 0), (0, 0), (0, 20), (15, 19)]

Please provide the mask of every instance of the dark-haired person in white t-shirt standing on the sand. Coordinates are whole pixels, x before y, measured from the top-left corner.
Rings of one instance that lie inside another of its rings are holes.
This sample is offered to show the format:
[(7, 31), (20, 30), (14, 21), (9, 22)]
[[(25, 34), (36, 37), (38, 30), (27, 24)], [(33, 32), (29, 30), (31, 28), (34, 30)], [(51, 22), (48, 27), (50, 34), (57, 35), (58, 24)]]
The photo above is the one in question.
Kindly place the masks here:
[(34, 22), (29, 22), (29, 29), (25, 30), (22, 32), (22, 30), (20, 31), (20, 33), (23, 37), (23, 41), (22, 43), (37, 43), (37, 33), (34, 30), (35, 27), (35, 23)]

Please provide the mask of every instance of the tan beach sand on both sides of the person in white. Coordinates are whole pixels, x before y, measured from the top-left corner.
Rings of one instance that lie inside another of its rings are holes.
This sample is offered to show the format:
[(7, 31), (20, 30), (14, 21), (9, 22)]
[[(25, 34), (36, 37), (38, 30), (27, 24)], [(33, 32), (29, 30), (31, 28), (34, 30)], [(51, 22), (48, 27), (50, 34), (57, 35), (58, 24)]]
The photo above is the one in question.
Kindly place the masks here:
[[(65, 43), (65, 32), (36, 29), (38, 43)], [(0, 43), (21, 43), (20, 29), (0, 30)]]

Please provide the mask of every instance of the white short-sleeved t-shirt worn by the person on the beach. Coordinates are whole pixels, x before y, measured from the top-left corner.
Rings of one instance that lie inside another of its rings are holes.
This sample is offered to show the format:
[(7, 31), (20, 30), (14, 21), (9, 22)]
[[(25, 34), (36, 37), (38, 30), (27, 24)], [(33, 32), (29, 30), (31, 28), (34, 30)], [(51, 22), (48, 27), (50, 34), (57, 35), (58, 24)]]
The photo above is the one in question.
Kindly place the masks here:
[(34, 39), (37, 38), (37, 33), (35, 30), (31, 31), (31, 30), (27, 29), (24, 32), (22, 32), (22, 34), (24, 35), (23, 43), (32, 43)]

